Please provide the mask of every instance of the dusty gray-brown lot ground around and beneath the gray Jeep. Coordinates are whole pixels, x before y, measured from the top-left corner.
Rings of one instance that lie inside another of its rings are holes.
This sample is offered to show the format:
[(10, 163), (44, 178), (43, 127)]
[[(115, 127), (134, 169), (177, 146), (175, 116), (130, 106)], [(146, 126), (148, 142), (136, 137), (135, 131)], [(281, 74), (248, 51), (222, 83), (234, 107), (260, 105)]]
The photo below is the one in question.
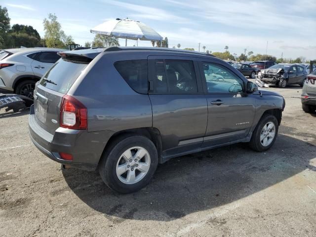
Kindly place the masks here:
[(159, 165), (119, 195), (97, 172), (61, 169), (28, 136), (28, 112), (0, 111), (0, 236), (316, 236), (316, 116), (301, 88), (271, 150), (236, 144)]

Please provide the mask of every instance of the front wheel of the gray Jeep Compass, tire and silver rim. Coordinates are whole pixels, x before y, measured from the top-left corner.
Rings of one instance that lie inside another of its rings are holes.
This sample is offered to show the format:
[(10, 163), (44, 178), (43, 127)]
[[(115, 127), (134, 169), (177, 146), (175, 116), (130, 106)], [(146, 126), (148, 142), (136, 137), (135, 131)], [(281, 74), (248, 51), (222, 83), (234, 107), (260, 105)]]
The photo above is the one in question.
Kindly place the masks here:
[(253, 131), (249, 146), (257, 152), (269, 150), (276, 141), (277, 131), (276, 117), (273, 115), (264, 116)]

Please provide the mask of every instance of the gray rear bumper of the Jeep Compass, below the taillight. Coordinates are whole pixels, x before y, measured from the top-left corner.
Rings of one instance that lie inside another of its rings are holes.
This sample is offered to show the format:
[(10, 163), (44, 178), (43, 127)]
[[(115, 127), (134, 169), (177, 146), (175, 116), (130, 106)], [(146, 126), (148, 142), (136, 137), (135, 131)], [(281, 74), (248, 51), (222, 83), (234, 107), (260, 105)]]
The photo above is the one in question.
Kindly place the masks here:
[[(87, 132), (59, 127), (55, 134), (50, 134), (37, 122), (34, 109), (31, 108), (29, 134), (34, 145), (48, 158), (79, 169), (95, 170), (114, 132)], [(62, 159), (59, 152), (71, 154), (73, 160)]]

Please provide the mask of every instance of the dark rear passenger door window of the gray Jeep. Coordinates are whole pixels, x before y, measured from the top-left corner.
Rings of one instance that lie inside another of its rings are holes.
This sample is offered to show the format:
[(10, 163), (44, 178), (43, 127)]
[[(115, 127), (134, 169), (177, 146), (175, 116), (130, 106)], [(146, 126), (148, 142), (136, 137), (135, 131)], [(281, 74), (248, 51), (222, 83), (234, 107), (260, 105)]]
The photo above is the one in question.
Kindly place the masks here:
[(196, 93), (197, 78), (193, 61), (154, 60), (156, 93)]

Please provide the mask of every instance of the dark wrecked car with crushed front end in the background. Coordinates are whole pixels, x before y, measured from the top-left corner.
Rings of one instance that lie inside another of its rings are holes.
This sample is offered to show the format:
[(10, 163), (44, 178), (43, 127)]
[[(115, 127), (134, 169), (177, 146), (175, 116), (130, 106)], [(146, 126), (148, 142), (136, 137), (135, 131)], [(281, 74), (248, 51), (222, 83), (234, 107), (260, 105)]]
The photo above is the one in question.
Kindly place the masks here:
[(303, 86), (307, 77), (305, 68), (297, 64), (276, 64), (258, 73), (258, 81), (285, 88), (287, 85)]

